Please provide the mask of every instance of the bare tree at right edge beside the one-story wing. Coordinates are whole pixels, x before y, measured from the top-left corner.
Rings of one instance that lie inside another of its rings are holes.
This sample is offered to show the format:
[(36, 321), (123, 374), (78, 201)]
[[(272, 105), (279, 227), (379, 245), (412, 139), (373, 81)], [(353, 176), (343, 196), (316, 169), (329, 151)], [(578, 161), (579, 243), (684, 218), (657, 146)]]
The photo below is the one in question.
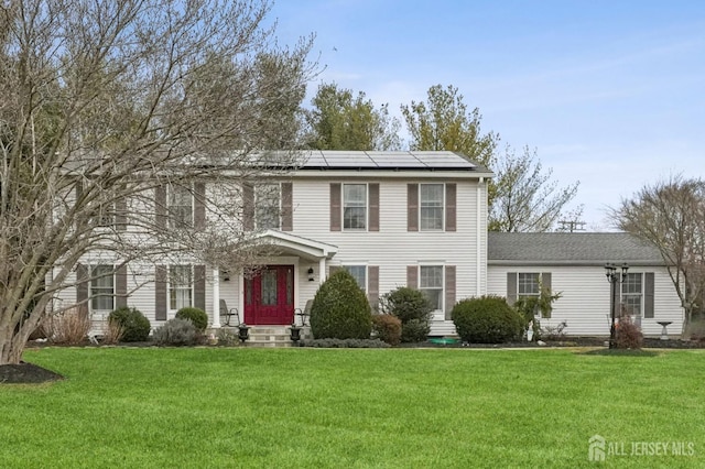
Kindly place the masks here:
[(673, 176), (644, 186), (610, 218), (659, 249), (685, 310), (685, 332), (705, 295), (705, 182)]

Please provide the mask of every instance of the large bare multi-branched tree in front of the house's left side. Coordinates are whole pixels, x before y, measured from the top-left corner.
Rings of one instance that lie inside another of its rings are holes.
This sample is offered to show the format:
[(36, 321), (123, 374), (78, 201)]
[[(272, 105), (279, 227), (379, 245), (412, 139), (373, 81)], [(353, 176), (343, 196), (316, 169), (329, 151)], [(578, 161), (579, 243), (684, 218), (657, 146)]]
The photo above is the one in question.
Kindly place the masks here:
[[(315, 67), (310, 39), (272, 45), (268, 11), (267, 0), (0, 6), (0, 364), (19, 362), (87, 252), (118, 265), (251, 261), (241, 187), (296, 164), (262, 150), (293, 146), (291, 113)], [(169, 221), (164, 186), (207, 198), (207, 214)]]

